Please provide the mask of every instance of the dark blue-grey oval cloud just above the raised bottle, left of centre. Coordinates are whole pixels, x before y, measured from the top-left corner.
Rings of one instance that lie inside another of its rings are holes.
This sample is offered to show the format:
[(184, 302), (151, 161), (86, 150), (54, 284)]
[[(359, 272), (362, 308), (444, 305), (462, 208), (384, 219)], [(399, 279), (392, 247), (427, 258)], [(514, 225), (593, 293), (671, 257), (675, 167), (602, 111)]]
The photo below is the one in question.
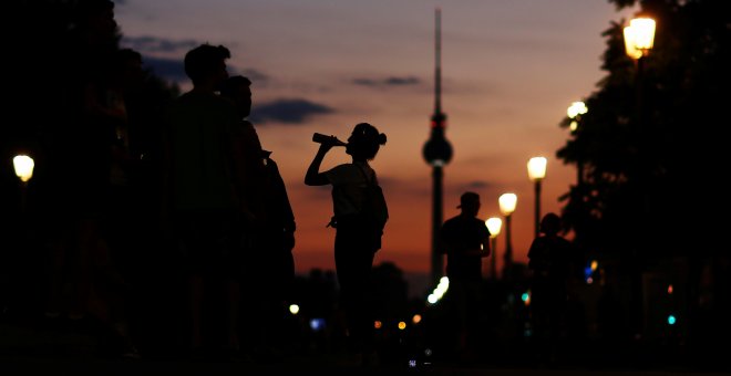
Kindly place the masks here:
[(307, 100), (277, 100), (251, 108), (249, 119), (257, 124), (280, 122), (285, 124), (301, 124), (315, 115), (334, 113), (326, 105), (312, 103)]

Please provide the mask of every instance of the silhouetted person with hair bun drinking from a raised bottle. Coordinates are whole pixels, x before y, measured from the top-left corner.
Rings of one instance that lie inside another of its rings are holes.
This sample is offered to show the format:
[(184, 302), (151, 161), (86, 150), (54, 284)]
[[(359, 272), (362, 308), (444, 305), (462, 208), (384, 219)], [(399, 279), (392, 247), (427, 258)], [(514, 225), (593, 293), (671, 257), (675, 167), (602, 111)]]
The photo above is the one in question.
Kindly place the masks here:
[(320, 144), (305, 176), (305, 184), (308, 186), (332, 186), (337, 230), (334, 261), (340, 302), (346, 314), (350, 349), (354, 354), (353, 362), (362, 365), (378, 362), (368, 293), (373, 258), (379, 246), (358, 213), (369, 181), (377, 182), (375, 171), (368, 161), (375, 158), (380, 146), (385, 142), (385, 134), (379, 133), (371, 124), (359, 123), (346, 145), (346, 153), (352, 157), (352, 163), (320, 171), (326, 154), (333, 146), (342, 145), (332, 137), (330, 142)]

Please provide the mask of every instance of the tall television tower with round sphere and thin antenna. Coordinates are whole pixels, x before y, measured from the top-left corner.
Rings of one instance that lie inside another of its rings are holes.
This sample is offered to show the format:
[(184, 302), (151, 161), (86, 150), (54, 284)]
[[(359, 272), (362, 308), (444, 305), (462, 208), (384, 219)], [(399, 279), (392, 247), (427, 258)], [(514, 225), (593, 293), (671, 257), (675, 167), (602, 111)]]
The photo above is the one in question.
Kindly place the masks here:
[(452, 145), (444, 138), (446, 114), (442, 113), (442, 10), (434, 13), (434, 114), (431, 134), (424, 144), (424, 159), (432, 166), (432, 269), (431, 282), (435, 285), (443, 275), (443, 255), (439, 249), (439, 231), (442, 227), (442, 168), (452, 159)]

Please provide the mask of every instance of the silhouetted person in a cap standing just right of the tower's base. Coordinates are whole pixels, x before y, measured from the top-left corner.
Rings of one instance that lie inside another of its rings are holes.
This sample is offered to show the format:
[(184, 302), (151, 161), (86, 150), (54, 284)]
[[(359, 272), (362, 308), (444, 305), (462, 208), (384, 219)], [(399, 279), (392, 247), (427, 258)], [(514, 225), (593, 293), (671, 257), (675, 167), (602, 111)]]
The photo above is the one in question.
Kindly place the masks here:
[(447, 296), (456, 313), (456, 354), (474, 355), (480, 323), (482, 294), (482, 259), (491, 254), (490, 230), (477, 218), (480, 195), (464, 192), (457, 208), (460, 215), (444, 221), (440, 230), (442, 250), (446, 253), (446, 276), (450, 279)]

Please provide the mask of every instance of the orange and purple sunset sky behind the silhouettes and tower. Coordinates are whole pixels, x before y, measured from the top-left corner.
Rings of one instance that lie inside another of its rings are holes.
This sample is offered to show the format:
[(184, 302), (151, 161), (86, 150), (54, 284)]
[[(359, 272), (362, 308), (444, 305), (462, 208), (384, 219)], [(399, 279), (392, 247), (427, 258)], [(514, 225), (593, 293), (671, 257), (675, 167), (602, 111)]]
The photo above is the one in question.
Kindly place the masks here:
[[(297, 217), (297, 270), (333, 269), (326, 228), (330, 188), (308, 187), (318, 145), (312, 133), (346, 139), (360, 122), (388, 135), (371, 165), (390, 205), (375, 262), (429, 272), (431, 167), (422, 157), (434, 103), (434, 10), (442, 9), (442, 108), (452, 161), (444, 167), (444, 219), (460, 195), (482, 197), (480, 217), (500, 216), (497, 198), (518, 197), (512, 217), (515, 260), (534, 231), (534, 186), (526, 164), (548, 158), (542, 211), (576, 179), (555, 158), (569, 137), (566, 108), (587, 97), (600, 71), (611, 21), (630, 18), (606, 0), (125, 0), (116, 3), (123, 46), (183, 90), (183, 56), (200, 43), (230, 49), (230, 74), (251, 79), (264, 147), (274, 150)], [(590, 108), (589, 108), (590, 111)], [(349, 161), (333, 149), (323, 168)], [(498, 265), (505, 231), (497, 238)]]

